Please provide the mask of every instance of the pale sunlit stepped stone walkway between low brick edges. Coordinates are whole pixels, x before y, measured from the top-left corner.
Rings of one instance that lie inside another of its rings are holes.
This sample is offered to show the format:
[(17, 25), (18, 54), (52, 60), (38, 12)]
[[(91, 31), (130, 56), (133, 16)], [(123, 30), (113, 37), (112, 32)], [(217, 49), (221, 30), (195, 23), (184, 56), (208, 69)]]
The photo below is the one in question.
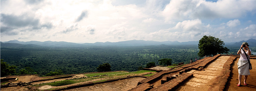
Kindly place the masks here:
[[(220, 56), (218, 59), (209, 63), (204, 68), (204, 71), (196, 70), (188, 73), (193, 73), (191, 79), (189, 79), (184, 85), (180, 86), (177, 91), (206, 91), (212, 84), (212, 81), (221, 73), (223, 64), (229, 57)], [(218, 65), (218, 66), (217, 66)]]

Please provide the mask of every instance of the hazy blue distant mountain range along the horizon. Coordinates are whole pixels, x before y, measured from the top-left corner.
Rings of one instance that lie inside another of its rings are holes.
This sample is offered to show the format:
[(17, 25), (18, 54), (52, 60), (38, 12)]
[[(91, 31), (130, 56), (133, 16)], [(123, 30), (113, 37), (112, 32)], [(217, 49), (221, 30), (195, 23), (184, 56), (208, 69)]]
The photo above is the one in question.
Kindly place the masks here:
[[(156, 42), (156, 41), (145, 41), (145, 40), (128, 40), (122, 42), (96, 42), (96, 43), (85, 43), (85, 44), (76, 44), (71, 42), (38, 42), (38, 41), (30, 41), (30, 42), (20, 42), (18, 40), (11, 40), (8, 42), (1, 42), (2, 44), (12, 43), (12, 44), (23, 44), (23, 45), (40, 45), (40, 46), (58, 46), (58, 47), (82, 47), (82, 46), (90, 46), (90, 45), (99, 45), (99, 46), (146, 46), (146, 45), (198, 45), (199, 41), (190, 41), (190, 42)], [(240, 41), (240, 42), (231, 42), (225, 43), (226, 46), (237, 46), (241, 45), (242, 42), (248, 42), (250, 47), (256, 46), (255, 39), (249, 39), (247, 41)]]

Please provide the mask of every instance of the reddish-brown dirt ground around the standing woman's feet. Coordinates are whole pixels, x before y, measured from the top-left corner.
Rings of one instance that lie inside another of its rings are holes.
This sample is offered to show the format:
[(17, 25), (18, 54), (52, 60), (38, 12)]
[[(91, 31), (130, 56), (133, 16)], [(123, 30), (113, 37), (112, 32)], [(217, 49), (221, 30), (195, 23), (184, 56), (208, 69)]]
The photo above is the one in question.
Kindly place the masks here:
[(238, 59), (234, 61), (234, 66), (232, 67), (232, 73), (230, 74), (231, 79), (229, 83), (226, 85), (225, 91), (256, 91), (256, 59), (251, 59), (252, 70), (250, 70), (250, 75), (246, 80), (247, 86), (244, 85), (244, 76), (242, 76), (241, 85), (240, 87), (237, 86), (238, 84), (238, 69), (237, 63)]

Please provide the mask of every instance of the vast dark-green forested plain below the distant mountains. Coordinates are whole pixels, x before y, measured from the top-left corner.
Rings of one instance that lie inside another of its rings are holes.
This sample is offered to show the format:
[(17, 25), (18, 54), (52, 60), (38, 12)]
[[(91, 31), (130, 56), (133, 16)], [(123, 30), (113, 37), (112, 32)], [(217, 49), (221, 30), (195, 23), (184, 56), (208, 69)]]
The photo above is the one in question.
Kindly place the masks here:
[[(236, 54), (239, 47), (228, 48)], [(164, 58), (172, 59), (172, 64), (186, 64), (200, 59), (198, 51), (198, 45), (50, 47), (1, 42), (1, 59), (17, 66), (16, 71), (30, 67), (40, 76), (56, 69), (64, 74), (96, 72), (103, 63), (109, 63), (111, 71), (138, 71), (149, 62), (159, 65), (158, 60)]]

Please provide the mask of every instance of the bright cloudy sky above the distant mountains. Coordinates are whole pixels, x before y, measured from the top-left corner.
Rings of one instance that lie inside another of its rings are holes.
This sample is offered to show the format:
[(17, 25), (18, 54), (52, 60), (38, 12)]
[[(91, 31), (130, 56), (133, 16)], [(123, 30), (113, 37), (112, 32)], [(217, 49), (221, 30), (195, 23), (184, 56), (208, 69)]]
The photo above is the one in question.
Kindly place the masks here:
[(1, 0), (1, 42), (256, 39), (256, 0)]

